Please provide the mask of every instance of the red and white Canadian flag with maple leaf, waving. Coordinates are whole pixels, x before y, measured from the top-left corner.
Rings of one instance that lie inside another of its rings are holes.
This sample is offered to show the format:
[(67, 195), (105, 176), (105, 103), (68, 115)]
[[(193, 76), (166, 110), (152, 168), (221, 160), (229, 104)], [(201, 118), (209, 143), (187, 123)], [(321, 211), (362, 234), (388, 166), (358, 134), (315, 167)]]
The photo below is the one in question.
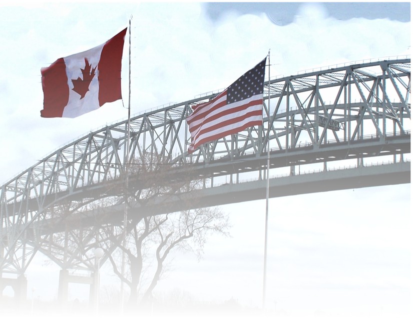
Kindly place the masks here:
[(42, 117), (76, 117), (122, 98), (126, 28), (105, 43), (43, 67)]

